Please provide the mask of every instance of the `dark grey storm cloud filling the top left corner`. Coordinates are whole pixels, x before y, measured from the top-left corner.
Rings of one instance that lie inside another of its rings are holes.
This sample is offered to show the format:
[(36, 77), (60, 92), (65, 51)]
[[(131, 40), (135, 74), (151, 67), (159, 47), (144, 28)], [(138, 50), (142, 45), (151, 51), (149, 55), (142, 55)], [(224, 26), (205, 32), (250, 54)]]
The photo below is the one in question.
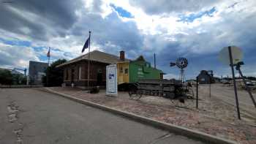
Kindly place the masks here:
[(49, 29), (63, 37), (77, 20), (75, 10), (80, 1), (17, 0), (0, 5), (0, 29), (23, 34), (33, 39), (47, 39)]

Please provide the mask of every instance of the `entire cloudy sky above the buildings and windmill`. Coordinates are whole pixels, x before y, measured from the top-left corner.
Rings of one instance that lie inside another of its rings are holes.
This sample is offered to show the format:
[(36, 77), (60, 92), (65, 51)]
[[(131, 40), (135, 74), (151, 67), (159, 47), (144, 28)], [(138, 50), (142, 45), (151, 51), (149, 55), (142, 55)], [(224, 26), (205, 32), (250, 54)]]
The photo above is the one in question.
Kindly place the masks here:
[[(170, 62), (187, 58), (187, 79), (201, 70), (231, 75), (219, 51), (236, 45), (244, 54), (241, 67), (256, 76), (255, 0), (0, 0), (0, 67), (28, 68), (29, 61), (70, 60), (81, 53), (91, 31), (91, 50), (126, 58), (143, 55), (177, 78)], [(6, 2), (11, 1), (11, 2)]]

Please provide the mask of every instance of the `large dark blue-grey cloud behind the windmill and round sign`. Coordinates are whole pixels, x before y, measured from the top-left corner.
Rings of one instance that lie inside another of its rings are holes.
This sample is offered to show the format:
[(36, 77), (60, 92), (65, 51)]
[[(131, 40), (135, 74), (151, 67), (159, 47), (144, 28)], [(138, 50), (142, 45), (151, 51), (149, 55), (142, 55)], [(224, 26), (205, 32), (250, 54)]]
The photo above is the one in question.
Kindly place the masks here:
[[(203, 69), (214, 70), (217, 75), (230, 75), (229, 67), (219, 61), (218, 54), (223, 47), (236, 45), (243, 50), (244, 72), (249, 74), (256, 70), (256, 34), (253, 32), (256, 16), (251, 13), (236, 17), (236, 13), (230, 12), (222, 15), (218, 23), (202, 23), (200, 27), (184, 31), (186, 34), (150, 35), (145, 39), (151, 49), (161, 48), (157, 50), (157, 65), (164, 72), (178, 75), (178, 69), (169, 67), (170, 61), (185, 57), (189, 60), (187, 77), (195, 77)], [(152, 56), (151, 53), (147, 57)]]

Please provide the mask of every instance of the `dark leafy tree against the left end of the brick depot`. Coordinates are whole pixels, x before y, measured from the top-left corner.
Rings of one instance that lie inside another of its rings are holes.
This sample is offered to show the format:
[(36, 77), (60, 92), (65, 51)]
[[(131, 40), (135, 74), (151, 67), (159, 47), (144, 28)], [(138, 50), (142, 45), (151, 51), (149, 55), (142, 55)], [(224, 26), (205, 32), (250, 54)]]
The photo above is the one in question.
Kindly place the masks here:
[(59, 59), (50, 64), (45, 71), (46, 75), (42, 77), (42, 83), (44, 83), (45, 86), (47, 85), (47, 81), (48, 86), (61, 86), (61, 83), (63, 83), (63, 71), (56, 66), (63, 64), (66, 61), (66, 59)]

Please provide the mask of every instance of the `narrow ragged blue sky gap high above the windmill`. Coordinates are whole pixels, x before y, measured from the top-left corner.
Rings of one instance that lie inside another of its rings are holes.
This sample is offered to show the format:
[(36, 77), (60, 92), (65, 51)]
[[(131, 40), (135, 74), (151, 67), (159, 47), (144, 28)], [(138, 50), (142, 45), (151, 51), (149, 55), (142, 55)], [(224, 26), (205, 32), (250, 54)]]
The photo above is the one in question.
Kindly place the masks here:
[(190, 15), (179, 15), (178, 17), (180, 19), (178, 21), (192, 23), (195, 19), (201, 18), (204, 15), (207, 15), (208, 17), (212, 17), (212, 14), (214, 12), (216, 12), (215, 7), (211, 8), (211, 10), (206, 10), (206, 11), (203, 11), (203, 12), (192, 13)]

